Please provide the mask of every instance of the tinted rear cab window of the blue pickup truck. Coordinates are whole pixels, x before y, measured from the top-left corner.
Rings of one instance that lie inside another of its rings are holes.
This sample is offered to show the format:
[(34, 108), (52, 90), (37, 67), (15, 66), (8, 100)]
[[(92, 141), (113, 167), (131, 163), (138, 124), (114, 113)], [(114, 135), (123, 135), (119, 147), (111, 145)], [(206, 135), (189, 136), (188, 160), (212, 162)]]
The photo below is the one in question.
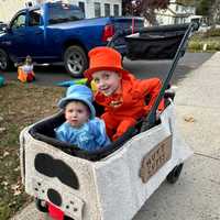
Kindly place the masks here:
[(67, 3), (51, 4), (48, 8), (48, 23), (57, 24), (68, 21), (78, 21), (84, 19), (84, 12), (80, 8)]

